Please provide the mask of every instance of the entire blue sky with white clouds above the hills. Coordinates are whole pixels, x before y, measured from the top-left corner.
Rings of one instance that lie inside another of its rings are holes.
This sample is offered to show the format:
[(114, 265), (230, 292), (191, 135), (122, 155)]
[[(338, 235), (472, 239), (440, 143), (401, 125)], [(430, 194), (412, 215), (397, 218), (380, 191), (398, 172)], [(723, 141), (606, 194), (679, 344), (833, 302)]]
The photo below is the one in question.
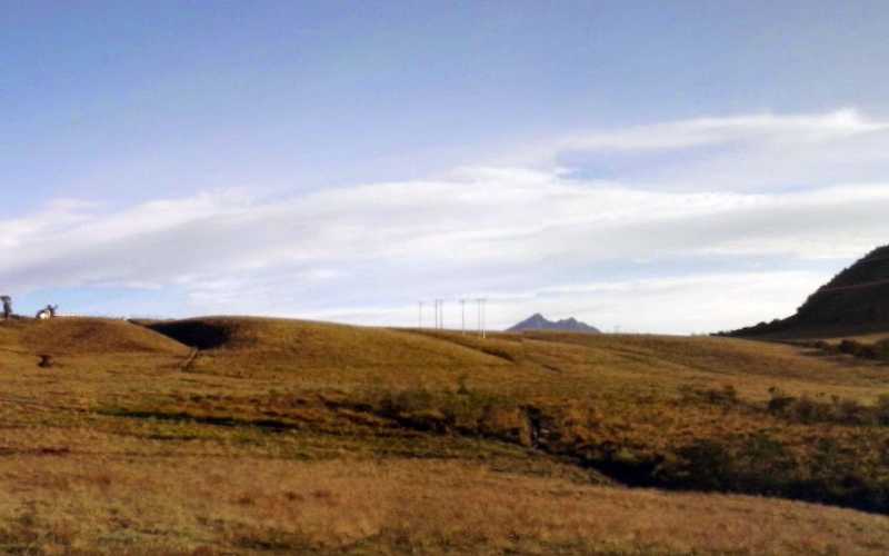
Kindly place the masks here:
[(887, 37), (885, 1), (0, 0), (0, 289), (116, 317), (783, 317), (889, 244)]

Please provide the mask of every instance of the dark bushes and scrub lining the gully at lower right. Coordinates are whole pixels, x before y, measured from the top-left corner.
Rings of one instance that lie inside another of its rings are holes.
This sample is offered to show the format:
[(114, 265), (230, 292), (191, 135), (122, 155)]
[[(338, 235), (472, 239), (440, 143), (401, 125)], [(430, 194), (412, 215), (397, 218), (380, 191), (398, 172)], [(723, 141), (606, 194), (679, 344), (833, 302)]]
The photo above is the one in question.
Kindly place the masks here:
[(520, 405), (508, 397), (475, 391), (461, 377), (453, 391), (380, 393), (373, 410), (418, 430), (483, 436), (543, 449), (628, 485), (780, 496), (889, 513), (889, 475), (881, 471), (889, 457), (880, 459), (873, 451), (883, 449), (883, 440), (878, 439), (885, 436), (876, 427), (889, 426), (889, 395), (865, 406), (839, 397), (812, 399), (771, 388), (770, 399), (762, 405), (745, 401), (731, 386), (685, 388), (686, 401), (713, 404), (727, 411), (768, 411), (812, 426), (857, 427), (855, 435), (869, 435), (873, 441), (863, 448), (843, 436), (828, 436), (831, 427), (826, 427), (819, 428), (820, 433), (812, 429), (816, 437), (802, 444), (775, 429), (762, 429), (718, 437), (701, 434), (655, 447), (630, 438), (597, 437), (590, 416), (569, 423), (558, 409)]

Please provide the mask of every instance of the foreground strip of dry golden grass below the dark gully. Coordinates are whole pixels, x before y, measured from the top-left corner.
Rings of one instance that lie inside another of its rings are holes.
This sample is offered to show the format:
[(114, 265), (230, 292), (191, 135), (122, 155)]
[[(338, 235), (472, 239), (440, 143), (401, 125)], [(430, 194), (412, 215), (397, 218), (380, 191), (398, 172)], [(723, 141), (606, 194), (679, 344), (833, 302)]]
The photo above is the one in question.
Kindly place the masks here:
[(883, 517), (456, 461), (19, 456), (0, 547), (43, 553), (879, 554)]

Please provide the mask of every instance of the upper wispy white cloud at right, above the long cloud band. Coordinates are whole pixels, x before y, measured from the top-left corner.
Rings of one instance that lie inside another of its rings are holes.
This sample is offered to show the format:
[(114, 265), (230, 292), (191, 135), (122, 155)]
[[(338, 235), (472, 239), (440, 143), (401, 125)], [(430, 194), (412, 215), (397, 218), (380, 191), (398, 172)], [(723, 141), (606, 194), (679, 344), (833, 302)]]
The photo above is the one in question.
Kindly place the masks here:
[(885, 181), (887, 150), (889, 121), (846, 108), (590, 130), (533, 146), (511, 160), (617, 176), (646, 189), (769, 191)]

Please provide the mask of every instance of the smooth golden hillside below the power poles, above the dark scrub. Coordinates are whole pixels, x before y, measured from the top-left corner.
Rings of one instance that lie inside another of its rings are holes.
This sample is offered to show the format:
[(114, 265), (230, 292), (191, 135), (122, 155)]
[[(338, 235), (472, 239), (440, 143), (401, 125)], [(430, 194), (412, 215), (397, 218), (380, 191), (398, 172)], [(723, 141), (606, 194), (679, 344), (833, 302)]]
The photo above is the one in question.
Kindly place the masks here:
[(678, 396), (683, 384), (729, 380), (743, 395), (768, 388), (822, 391), (876, 400), (889, 380), (869, 366), (800, 356), (798, 348), (722, 338), (586, 335), (538, 331), (492, 334), (352, 327), (303, 320), (209, 317), (151, 325), (203, 349), (194, 370), (237, 377), (276, 377), (293, 385), (317, 378), (331, 387), (458, 386), (460, 379), (501, 394), (601, 395), (619, 386)]

